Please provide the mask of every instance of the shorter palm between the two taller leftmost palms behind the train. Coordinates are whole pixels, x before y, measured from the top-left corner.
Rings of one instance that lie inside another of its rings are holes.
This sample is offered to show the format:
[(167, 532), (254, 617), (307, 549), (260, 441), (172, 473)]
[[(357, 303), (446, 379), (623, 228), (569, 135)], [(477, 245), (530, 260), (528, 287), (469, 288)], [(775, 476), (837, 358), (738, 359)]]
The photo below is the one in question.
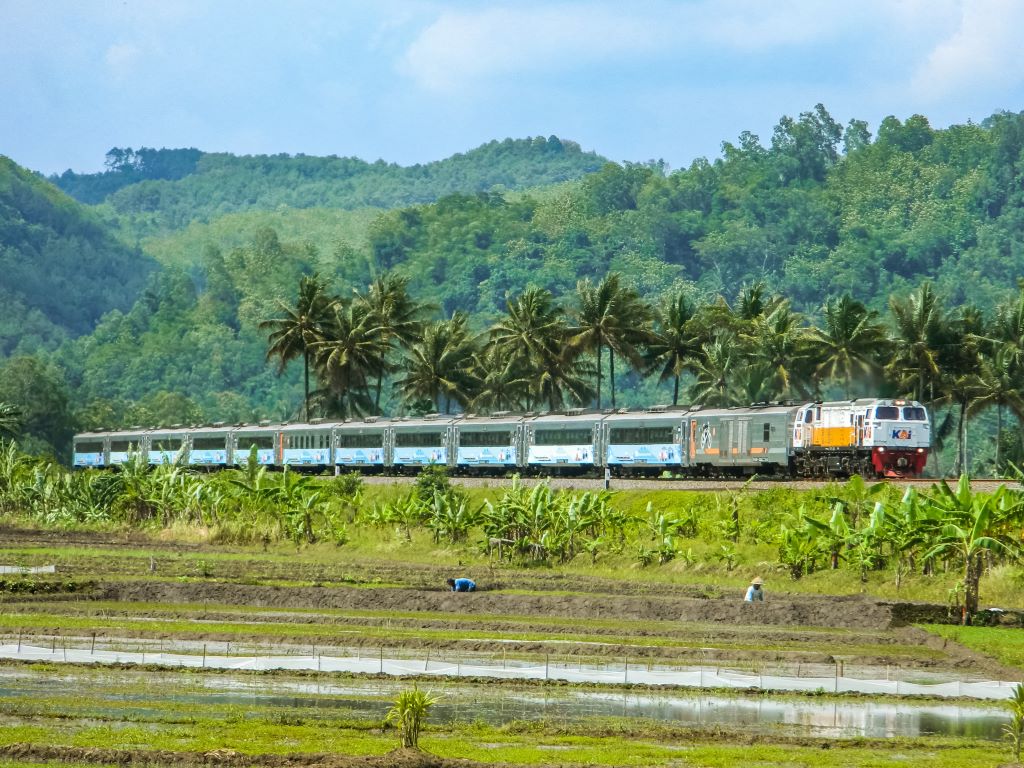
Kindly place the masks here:
[[(337, 404), (339, 416), (369, 411), (371, 376), (386, 366), (387, 337), (378, 317), (360, 301), (338, 301), (312, 344), (316, 370)], [(335, 410), (335, 409), (331, 409)]]

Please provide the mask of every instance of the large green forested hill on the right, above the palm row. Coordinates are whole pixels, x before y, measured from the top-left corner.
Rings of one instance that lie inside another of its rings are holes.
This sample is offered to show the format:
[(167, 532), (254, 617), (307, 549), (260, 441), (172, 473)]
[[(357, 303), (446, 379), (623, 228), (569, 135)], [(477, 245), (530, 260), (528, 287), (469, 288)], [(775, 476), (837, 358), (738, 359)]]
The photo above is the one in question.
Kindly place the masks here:
[(764, 282), (811, 313), (845, 293), (885, 312), (931, 280), (991, 309), (1024, 275), (1024, 113), (945, 129), (887, 118), (872, 135), (818, 105), (673, 173), (608, 164), (556, 196), (390, 212), (369, 247), (446, 312), (494, 316), (508, 292), (571, 294), (608, 271), (650, 297), (688, 284), (731, 301)]

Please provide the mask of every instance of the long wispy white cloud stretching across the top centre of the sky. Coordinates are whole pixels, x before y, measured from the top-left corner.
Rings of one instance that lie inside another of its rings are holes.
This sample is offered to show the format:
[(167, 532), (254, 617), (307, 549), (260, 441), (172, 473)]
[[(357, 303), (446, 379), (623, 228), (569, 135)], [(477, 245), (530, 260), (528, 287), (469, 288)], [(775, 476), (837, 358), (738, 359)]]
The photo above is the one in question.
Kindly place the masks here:
[(428, 90), (458, 90), (493, 76), (580, 70), (680, 52), (770, 52), (822, 44), (851, 27), (883, 25), (887, 0), (578, 2), (443, 10), (409, 46), (398, 69)]

